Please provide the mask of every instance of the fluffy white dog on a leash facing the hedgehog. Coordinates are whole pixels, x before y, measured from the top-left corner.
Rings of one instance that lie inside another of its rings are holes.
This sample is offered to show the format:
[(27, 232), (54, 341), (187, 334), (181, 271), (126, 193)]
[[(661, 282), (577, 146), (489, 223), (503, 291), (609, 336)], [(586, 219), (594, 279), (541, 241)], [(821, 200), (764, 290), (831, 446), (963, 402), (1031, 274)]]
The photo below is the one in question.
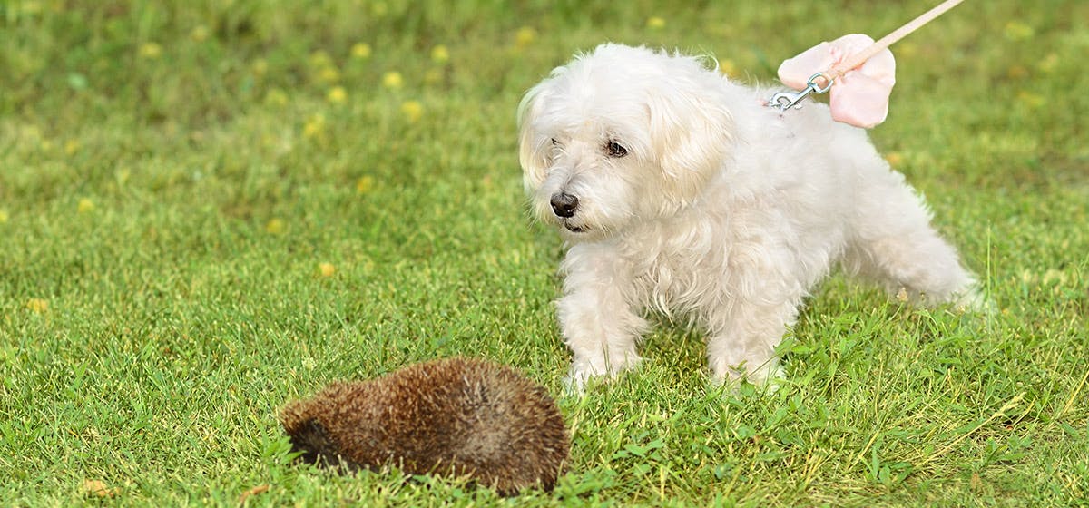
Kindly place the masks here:
[(971, 294), (865, 131), (815, 102), (768, 108), (774, 90), (705, 60), (602, 45), (518, 108), (533, 211), (570, 247), (558, 302), (568, 382), (636, 365), (650, 311), (706, 329), (717, 381), (779, 376), (775, 346), (835, 262), (923, 302)]

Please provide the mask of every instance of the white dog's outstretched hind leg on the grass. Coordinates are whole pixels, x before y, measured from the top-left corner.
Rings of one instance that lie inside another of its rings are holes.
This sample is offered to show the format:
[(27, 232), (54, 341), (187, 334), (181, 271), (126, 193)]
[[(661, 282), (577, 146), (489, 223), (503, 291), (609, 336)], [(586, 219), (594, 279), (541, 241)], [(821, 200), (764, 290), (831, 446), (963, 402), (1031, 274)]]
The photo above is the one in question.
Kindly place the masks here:
[(892, 295), (926, 303), (975, 307), (975, 278), (930, 224), (930, 213), (900, 173), (873, 173), (858, 188), (843, 259), (852, 273), (881, 282)]

